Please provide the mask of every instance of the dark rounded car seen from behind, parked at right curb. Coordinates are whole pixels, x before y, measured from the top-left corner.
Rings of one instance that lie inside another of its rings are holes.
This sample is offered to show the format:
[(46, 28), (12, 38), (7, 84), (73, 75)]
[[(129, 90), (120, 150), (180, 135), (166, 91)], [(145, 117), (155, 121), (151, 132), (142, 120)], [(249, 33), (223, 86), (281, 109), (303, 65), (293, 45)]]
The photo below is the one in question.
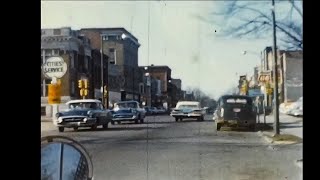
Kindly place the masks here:
[(248, 127), (251, 130), (254, 130), (256, 126), (256, 108), (249, 96), (221, 96), (218, 100), (215, 116), (217, 131), (222, 126)]

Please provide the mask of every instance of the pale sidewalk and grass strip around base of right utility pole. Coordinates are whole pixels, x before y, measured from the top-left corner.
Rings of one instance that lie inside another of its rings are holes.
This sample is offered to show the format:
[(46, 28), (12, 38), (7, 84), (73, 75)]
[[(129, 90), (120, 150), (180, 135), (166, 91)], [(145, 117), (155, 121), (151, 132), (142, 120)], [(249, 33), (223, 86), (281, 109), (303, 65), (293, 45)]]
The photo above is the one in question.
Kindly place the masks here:
[[(303, 117), (294, 117), (286, 114), (279, 114), (280, 121), (280, 135), (275, 137), (274, 131), (260, 132), (267, 141), (275, 144), (291, 144), (302, 142), (303, 135)], [(271, 114), (266, 116), (266, 123), (273, 126), (274, 116)], [(260, 116), (260, 123), (263, 123), (263, 115)]]

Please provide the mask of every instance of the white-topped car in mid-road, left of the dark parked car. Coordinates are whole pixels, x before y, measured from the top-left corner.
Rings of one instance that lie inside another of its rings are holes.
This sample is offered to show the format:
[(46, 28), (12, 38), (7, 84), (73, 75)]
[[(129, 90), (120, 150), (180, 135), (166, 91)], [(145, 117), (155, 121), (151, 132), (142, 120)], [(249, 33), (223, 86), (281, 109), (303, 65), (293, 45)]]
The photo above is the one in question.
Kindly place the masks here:
[(205, 111), (201, 108), (198, 101), (179, 101), (170, 114), (176, 121), (195, 118), (199, 121), (204, 120)]

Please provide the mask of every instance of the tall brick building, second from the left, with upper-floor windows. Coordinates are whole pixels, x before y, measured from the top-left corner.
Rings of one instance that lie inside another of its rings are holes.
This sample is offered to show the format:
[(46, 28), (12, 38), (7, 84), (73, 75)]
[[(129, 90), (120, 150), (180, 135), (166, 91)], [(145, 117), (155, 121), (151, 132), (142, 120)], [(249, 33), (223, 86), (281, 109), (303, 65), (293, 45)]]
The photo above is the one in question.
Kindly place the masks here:
[[(79, 31), (91, 40), (92, 48), (103, 49), (110, 57), (109, 70), (117, 69), (119, 75), (109, 77), (109, 97), (120, 99), (120, 92), (125, 92), (126, 99), (140, 101), (142, 71), (138, 67), (138, 39), (124, 28), (85, 28)], [(111, 79), (110, 79), (111, 78)], [(112, 86), (112, 87), (111, 87)]]

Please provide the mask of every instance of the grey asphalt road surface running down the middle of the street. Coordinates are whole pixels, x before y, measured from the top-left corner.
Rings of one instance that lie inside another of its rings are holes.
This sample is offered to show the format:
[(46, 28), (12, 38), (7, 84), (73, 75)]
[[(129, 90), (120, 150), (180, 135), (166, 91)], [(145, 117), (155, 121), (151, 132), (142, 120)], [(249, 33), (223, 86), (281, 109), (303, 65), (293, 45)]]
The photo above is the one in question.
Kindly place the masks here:
[(59, 133), (41, 123), (41, 135), (82, 143), (92, 156), (95, 180), (300, 180), (302, 144), (269, 145), (257, 132), (219, 131), (212, 116), (175, 122), (152, 116), (144, 124), (110, 125)]

